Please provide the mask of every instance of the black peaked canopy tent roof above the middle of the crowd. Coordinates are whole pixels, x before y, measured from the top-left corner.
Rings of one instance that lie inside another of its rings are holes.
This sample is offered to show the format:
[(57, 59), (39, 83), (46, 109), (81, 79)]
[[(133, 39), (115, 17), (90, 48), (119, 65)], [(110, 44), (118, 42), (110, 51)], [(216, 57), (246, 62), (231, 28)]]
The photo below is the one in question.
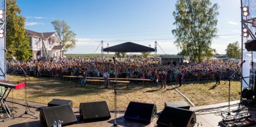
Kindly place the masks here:
[(121, 43), (119, 45), (107, 47), (104, 52), (155, 52), (154, 48), (139, 45), (132, 42)]

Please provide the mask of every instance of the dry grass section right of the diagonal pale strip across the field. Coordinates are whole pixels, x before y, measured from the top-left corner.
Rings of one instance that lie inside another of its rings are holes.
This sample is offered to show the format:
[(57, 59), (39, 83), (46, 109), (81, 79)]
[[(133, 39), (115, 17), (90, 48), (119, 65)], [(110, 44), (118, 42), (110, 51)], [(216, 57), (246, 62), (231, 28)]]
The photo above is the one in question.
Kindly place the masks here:
[[(188, 97), (195, 105), (208, 105), (228, 101), (228, 82), (222, 80), (219, 85), (215, 85), (215, 80), (202, 80), (184, 82), (178, 90)], [(177, 82), (173, 83), (178, 86)], [(230, 100), (239, 100), (241, 82), (239, 80), (230, 83)]]

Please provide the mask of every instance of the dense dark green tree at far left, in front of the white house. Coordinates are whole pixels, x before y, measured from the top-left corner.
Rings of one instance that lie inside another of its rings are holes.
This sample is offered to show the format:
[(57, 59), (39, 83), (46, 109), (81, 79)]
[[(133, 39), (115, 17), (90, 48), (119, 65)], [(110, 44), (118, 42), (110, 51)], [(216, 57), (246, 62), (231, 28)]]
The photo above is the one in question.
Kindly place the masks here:
[(29, 51), (30, 38), (24, 28), (25, 18), (20, 15), (21, 10), (16, 0), (7, 0), (6, 10), (6, 48), (12, 51), (18, 60), (26, 61), (32, 56), (32, 52)]

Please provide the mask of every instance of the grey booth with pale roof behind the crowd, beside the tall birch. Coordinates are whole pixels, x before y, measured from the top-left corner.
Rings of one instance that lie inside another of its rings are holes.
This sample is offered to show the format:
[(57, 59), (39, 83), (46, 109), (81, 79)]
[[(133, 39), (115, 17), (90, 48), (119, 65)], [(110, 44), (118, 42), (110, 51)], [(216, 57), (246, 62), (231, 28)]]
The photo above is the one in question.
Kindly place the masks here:
[(176, 63), (176, 65), (180, 65), (183, 63), (183, 57), (182, 55), (163, 55), (161, 58), (162, 65), (172, 65), (173, 63)]

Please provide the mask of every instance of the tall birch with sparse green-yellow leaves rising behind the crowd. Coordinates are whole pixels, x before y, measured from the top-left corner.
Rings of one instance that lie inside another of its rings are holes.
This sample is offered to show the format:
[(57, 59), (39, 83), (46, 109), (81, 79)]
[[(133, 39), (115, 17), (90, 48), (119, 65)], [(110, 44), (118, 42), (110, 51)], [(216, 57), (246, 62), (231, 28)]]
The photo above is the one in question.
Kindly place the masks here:
[(210, 0), (178, 0), (175, 6), (176, 29), (171, 32), (177, 38), (176, 47), (192, 61), (201, 62), (212, 56), (215, 50), (210, 45), (217, 37), (218, 4), (212, 5)]

